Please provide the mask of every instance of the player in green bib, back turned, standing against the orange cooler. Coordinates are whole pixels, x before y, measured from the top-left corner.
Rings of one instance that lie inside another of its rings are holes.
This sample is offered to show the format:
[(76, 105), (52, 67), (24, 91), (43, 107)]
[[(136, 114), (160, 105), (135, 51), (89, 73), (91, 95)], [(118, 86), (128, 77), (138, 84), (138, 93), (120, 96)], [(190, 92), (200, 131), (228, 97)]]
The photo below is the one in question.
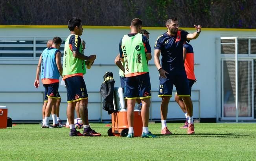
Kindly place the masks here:
[(131, 21), (131, 33), (120, 40), (119, 52), (125, 68), (125, 95), (127, 99), (128, 135), (133, 137), (135, 99), (142, 101), (142, 137), (157, 137), (148, 129), (151, 86), (147, 61), (152, 58), (148, 39), (140, 34), (142, 21), (134, 18)]

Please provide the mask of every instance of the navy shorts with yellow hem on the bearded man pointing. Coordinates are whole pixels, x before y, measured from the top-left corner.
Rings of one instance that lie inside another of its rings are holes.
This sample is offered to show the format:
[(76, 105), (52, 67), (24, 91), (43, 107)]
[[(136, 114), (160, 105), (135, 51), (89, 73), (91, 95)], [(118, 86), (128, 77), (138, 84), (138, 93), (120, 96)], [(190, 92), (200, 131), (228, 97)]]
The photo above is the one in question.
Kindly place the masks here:
[(171, 97), (173, 91), (173, 85), (175, 85), (178, 96), (190, 97), (190, 87), (186, 73), (182, 74), (166, 74), (167, 78), (159, 77), (160, 86), (158, 91), (158, 97), (169, 96)]

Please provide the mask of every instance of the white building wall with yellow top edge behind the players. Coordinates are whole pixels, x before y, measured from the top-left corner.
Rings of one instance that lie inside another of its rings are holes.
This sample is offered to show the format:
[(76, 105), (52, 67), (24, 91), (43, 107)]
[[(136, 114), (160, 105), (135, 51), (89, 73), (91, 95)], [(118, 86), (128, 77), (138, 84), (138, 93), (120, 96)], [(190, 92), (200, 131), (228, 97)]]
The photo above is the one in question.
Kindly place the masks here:
[[(149, 42), (153, 56), (155, 40), (166, 29), (164, 27), (145, 27), (145, 29), (150, 33)], [(194, 28), (184, 29), (190, 33), (195, 31)], [(107, 112), (101, 111), (101, 97), (97, 92), (103, 82), (103, 75), (107, 71), (114, 73), (115, 86), (120, 86), (118, 67), (114, 65), (114, 59), (119, 53), (120, 38), (129, 31), (129, 27), (84, 26), (81, 38), (86, 42), (85, 55), (97, 55), (94, 66), (84, 76), (89, 92), (90, 120), (111, 119)], [(48, 40), (55, 36), (64, 39), (69, 33), (66, 26), (0, 26), (0, 37), (45, 37)], [(218, 40), (222, 35), (236, 36), (237, 34), (240, 36), (252, 35), (254, 32), (250, 30), (236, 32), (227, 29), (203, 29), (199, 38), (190, 42), (195, 53), (195, 64), (197, 64), (195, 66), (197, 83), (192, 87), (192, 90), (196, 90), (192, 92), (194, 117), (199, 117), (199, 102), (201, 118), (215, 118), (216, 112), (220, 117), (220, 71), (217, 71), (220, 66), (220, 61), (218, 61), (218, 55), (220, 55), (218, 46), (220, 44), (216, 39)], [(44, 88), (40, 86), (39, 89), (36, 89), (33, 86), (37, 63), (37, 58), (0, 57), (0, 105), (7, 106), (8, 116), (13, 120), (41, 120)], [(149, 61), (149, 70), (153, 91), (152, 101), (158, 101), (151, 104), (151, 119), (160, 119), (161, 99), (157, 97), (159, 79), (153, 57)], [(62, 97), (60, 117), (66, 119), (66, 89), (60, 85), (59, 91)], [(184, 114), (176, 102), (173, 102), (174, 98), (171, 98), (171, 101), (168, 119), (183, 119)]]

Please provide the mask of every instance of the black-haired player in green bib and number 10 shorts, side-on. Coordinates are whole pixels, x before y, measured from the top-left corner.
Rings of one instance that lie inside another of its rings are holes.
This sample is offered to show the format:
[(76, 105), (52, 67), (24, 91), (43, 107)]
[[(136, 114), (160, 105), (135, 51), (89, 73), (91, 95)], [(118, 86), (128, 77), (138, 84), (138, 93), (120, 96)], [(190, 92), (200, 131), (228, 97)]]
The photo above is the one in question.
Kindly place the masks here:
[[(83, 75), (86, 73), (86, 64), (92, 63), (96, 55), (89, 57), (83, 55), (81, 38), (83, 25), (79, 18), (71, 18), (68, 21), (70, 35), (66, 39), (63, 59), (63, 80), (67, 90), (67, 118), (70, 127), (70, 136), (101, 136), (90, 128), (88, 122), (88, 94)], [(85, 61), (87, 60), (87, 61)], [(83, 121), (83, 134), (78, 132), (74, 124), (74, 110), (79, 101), (79, 114)]]

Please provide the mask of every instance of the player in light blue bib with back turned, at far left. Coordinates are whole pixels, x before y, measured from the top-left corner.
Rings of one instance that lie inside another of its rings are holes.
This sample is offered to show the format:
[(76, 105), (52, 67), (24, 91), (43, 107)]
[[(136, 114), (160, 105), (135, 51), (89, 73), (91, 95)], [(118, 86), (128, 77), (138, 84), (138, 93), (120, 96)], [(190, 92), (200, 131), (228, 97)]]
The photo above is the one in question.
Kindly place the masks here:
[[(62, 40), (59, 37), (54, 37), (52, 42), (52, 47), (44, 49), (39, 58), (36, 79), (34, 82), (34, 86), (38, 88), (39, 74), (41, 68), (42, 84), (44, 86), (45, 93), (47, 93), (46, 95), (48, 97), (48, 101), (45, 101), (45, 111), (44, 107), (42, 110), (43, 115), (45, 113), (42, 128), (50, 127), (49, 117), (52, 111), (52, 107), (56, 104), (57, 101), (57, 93), (59, 89), (59, 76), (62, 75), (61, 52), (59, 51)], [(53, 119), (53, 127), (62, 127), (59, 125), (57, 118)]]

